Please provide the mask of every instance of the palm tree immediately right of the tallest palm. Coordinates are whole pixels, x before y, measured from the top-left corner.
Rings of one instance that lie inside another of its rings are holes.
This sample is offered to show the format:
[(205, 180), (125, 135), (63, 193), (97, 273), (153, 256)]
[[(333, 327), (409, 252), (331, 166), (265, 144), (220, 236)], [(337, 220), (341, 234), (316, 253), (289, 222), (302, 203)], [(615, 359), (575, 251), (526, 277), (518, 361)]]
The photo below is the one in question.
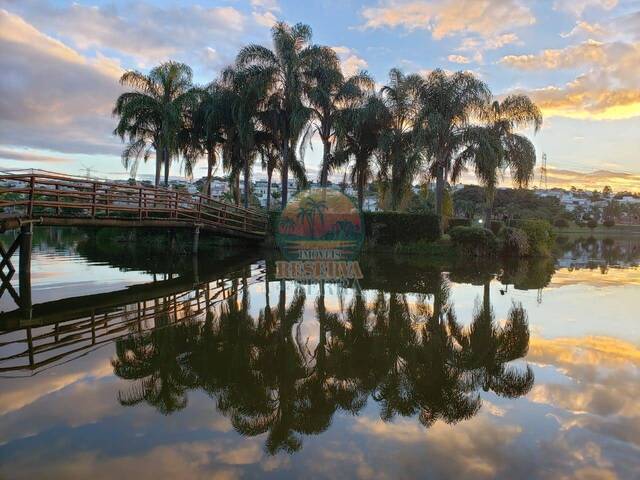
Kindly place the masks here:
[(345, 79), (332, 49), (325, 49), (326, 57), (311, 71), (311, 82), (307, 90), (307, 98), (313, 111), (314, 122), (309, 124), (302, 145), (310, 141), (317, 133), (322, 141), (322, 165), (320, 168), (320, 185), (327, 186), (331, 168), (331, 150), (336, 140), (336, 124), (341, 110), (358, 101), (364, 91), (373, 88), (373, 79), (360, 72)]

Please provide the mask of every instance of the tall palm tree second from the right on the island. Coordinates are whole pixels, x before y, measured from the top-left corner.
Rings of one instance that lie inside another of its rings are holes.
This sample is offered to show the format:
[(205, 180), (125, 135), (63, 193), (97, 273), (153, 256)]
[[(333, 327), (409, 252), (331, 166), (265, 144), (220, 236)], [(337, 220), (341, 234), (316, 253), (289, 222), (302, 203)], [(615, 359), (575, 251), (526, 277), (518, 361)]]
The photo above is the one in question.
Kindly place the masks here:
[(436, 179), (436, 213), (442, 220), (444, 187), (456, 156), (482, 133), (471, 124), (490, 98), (489, 87), (469, 72), (452, 75), (438, 69), (426, 78), (422, 89), (424, 141), (430, 156), (431, 176)]

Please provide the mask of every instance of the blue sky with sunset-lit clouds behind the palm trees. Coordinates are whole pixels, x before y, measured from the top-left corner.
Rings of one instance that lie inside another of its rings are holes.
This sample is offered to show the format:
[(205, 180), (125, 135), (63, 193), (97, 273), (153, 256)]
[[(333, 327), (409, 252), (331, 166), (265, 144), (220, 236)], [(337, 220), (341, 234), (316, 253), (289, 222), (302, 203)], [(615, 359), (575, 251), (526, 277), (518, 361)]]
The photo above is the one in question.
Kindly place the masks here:
[[(640, 0), (0, 0), (0, 168), (126, 178), (120, 75), (172, 59), (206, 84), (242, 46), (270, 45), (276, 20), (309, 24), (346, 74), (378, 85), (392, 67), (443, 68), (525, 93), (544, 115), (528, 133), (549, 187), (640, 191)], [(311, 177), (320, 157), (307, 150)]]

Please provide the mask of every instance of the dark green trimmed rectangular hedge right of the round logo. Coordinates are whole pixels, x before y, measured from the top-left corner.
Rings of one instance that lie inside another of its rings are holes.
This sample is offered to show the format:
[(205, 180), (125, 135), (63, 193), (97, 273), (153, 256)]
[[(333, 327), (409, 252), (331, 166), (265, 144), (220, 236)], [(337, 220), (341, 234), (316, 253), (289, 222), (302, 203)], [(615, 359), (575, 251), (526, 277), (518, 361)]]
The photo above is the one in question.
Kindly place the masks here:
[(439, 217), (433, 213), (363, 212), (365, 236), (371, 245), (432, 242), (440, 238)]

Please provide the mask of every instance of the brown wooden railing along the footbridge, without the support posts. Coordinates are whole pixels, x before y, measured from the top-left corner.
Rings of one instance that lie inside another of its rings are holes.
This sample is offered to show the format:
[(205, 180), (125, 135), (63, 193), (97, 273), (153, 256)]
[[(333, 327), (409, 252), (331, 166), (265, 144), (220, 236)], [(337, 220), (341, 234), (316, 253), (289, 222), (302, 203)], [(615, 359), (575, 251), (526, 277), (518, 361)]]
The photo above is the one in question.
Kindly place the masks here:
[(263, 213), (199, 193), (49, 172), (0, 174), (0, 214), (43, 217), (48, 224), (56, 224), (58, 219), (57, 224), (62, 225), (73, 224), (75, 219), (95, 225), (109, 220), (132, 226), (198, 226), (257, 238), (264, 236), (267, 226)]

